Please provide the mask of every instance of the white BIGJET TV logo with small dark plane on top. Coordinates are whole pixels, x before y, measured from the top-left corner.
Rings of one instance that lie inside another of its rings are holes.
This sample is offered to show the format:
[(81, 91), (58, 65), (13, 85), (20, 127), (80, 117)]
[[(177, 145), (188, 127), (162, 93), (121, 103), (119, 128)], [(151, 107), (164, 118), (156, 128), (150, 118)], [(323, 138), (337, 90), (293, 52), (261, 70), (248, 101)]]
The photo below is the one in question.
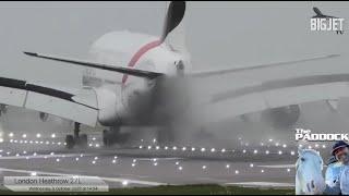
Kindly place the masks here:
[(316, 15), (312, 16), (310, 20), (311, 30), (336, 32), (337, 34), (344, 34), (345, 19), (324, 15), (317, 8), (313, 8), (313, 10)]

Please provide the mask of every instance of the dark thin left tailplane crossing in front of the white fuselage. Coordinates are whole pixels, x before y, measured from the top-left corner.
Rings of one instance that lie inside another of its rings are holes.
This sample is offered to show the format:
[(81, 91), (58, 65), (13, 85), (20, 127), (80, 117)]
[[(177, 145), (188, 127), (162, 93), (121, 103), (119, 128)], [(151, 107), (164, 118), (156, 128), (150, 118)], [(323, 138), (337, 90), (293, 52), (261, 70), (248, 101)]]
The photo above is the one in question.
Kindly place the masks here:
[(67, 63), (81, 65), (81, 66), (88, 66), (88, 68), (96, 68), (96, 69), (107, 70), (112, 72), (119, 72), (122, 74), (133, 75), (137, 77), (146, 77), (151, 79), (163, 75), (161, 73), (157, 73), (157, 72), (137, 70), (137, 69), (131, 69), (131, 68), (124, 68), (124, 66), (118, 66), (118, 65), (111, 65), (111, 64), (101, 64), (101, 63), (88, 62), (88, 61), (76, 60), (76, 59), (68, 59), (68, 58), (61, 58), (61, 57), (56, 57), (50, 54), (34, 53), (34, 52), (24, 52), (24, 53), (31, 57), (67, 62)]

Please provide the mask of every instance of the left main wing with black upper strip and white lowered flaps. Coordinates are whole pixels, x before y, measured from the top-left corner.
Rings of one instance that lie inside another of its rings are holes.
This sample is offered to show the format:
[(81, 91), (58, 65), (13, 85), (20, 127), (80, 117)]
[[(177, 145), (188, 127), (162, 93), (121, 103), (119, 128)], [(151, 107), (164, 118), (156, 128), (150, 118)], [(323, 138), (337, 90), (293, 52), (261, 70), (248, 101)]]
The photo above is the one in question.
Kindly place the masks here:
[(0, 77), (0, 102), (96, 126), (98, 106), (93, 89), (62, 90), (26, 81)]

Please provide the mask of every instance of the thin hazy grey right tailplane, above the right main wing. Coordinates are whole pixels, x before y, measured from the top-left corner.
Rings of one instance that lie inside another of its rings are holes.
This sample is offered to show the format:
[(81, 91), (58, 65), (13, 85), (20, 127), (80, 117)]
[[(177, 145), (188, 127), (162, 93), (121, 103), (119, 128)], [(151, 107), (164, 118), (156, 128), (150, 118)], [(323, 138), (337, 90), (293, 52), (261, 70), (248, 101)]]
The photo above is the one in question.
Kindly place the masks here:
[(215, 76), (215, 75), (221, 75), (221, 74), (234, 73), (234, 72), (241, 72), (241, 71), (249, 71), (249, 70), (258, 70), (258, 69), (266, 69), (266, 68), (273, 68), (273, 66), (285, 66), (285, 65), (297, 64), (297, 63), (306, 62), (306, 61), (316, 61), (316, 60), (324, 60), (324, 59), (337, 58), (337, 57), (339, 57), (339, 54), (327, 54), (327, 56), (320, 56), (320, 57), (313, 57), (313, 58), (308, 58), (308, 59), (284, 61), (284, 62), (276, 62), (276, 63), (269, 63), (269, 64), (258, 64), (258, 65), (252, 65), (252, 66), (227, 68), (227, 69), (217, 69), (217, 70), (207, 70), (207, 71), (194, 71), (194, 72), (190, 73), (189, 75), (192, 77), (207, 77), (207, 76)]

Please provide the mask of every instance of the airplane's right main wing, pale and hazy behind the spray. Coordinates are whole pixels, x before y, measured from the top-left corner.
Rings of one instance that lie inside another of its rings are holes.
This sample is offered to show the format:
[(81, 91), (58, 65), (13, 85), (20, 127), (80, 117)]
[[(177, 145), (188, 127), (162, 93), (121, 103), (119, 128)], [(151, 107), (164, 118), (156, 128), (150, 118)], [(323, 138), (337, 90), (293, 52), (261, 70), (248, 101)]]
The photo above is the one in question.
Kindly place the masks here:
[(205, 123), (233, 119), (266, 109), (349, 97), (349, 74), (278, 79), (216, 95), (195, 115)]

